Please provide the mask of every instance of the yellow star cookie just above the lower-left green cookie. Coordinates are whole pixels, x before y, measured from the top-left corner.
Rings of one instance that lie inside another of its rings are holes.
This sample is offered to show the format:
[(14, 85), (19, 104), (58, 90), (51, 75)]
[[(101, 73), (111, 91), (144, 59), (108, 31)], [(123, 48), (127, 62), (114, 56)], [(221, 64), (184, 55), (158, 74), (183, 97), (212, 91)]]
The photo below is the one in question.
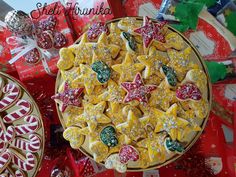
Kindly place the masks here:
[(84, 103), (84, 112), (77, 117), (78, 120), (87, 122), (90, 132), (93, 132), (98, 123), (106, 124), (111, 122), (111, 119), (103, 114), (106, 107), (106, 102), (100, 102), (96, 105)]

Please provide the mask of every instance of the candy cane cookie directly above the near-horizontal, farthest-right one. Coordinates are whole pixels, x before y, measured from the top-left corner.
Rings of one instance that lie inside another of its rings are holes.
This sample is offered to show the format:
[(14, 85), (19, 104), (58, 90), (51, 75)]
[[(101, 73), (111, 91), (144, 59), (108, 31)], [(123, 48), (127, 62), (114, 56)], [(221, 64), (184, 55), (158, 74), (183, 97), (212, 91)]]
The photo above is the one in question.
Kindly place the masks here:
[(15, 132), (16, 135), (25, 135), (33, 133), (40, 127), (39, 118), (35, 115), (28, 115), (24, 118), (24, 121), (28, 124), (16, 125)]

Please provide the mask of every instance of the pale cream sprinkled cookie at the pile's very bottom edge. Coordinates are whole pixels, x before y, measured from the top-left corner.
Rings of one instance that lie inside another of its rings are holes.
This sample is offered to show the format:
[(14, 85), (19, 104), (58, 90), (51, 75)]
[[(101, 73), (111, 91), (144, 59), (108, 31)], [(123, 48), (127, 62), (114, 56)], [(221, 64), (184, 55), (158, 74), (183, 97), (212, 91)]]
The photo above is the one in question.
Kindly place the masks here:
[(126, 164), (120, 162), (119, 154), (110, 155), (105, 161), (105, 167), (107, 169), (115, 169), (119, 173), (124, 173), (127, 170)]

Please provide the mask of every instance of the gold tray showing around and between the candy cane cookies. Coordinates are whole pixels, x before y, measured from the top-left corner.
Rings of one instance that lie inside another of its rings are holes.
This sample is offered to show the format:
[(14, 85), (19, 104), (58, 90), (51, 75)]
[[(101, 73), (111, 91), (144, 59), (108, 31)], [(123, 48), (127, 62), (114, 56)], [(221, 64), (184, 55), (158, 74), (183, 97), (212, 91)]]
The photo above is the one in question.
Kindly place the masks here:
[[(43, 126), (42, 116), (40, 114), (39, 108), (38, 108), (36, 102), (34, 101), (33, 97), (29, 94), (29, 92), (26, 90), (26, 88), (19, 81), (17, 81), (13, 77), (9, 76), (8, 74), (2, 73), (2, 72), (0, 72), (0, 77), (4, 80), (5, 84), (6, 83), (15, 83), (16, 85), (18, 85), (18, 87), (21, 90), (21, 94), (20, 94), (19, 99), (28, 100), (31, 103), (31, 113), (29, 115), (36, 115), (40, 120), (40, 128), (37, 131), (35, 131), (35, 134), (37, 134), (41, 137), (41, 148), (36, 153), (33, 153), (37, 159), (35, 167), (32, 170), (25, 172), (26, 176), (35, 177), (37, 175), (38, 171), (40, 170), (40, 166), (41, 166), (41, 162), (42, 162), (42, 158), (43, 158), (43, 153), (44, 153), (45, 136), (44, 136), (44, 126)], [(4, 112), (10, 113), (16, 109), (19, 109), (19, 107), (16, 105), (13, 105), (12, 107), (5, 110)], [(20, 120), (13, 122), (12, 124), (18, 125), (23, 122), (24, 122), (24, 120), (20, 119)], [(28, 135), (22, 135), (21, 137), (27, 137), (27, 136)], [(26, 153), (25, 151), (18, 150), (18, 149), (17, 149), (17, 151), (20, 152), (20, 154), (23, 154), (25, 156), (25, 153)], [(12, 171), (17, 170), (18, 167), (16, 165), (10, 163), (7, 166), (7, 169), (12, 172)]]

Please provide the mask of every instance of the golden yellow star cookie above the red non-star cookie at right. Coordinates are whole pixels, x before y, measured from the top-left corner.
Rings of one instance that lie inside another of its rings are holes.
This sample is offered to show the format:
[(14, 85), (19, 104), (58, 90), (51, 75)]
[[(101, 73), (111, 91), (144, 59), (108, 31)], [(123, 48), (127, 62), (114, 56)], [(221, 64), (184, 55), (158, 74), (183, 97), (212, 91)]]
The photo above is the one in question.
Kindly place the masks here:
[(194, 64), (190, 60), (190, 54), (192, 52), (191, 47), (187, 47), (183, 51), (176, 51), (173, 49), (167, 50), (167, 54), (170, 58), (168, 66), (172, 67), (177, 75), (177, 79), (182, 81), (190, 69), (198, 69), (199, 66)]

